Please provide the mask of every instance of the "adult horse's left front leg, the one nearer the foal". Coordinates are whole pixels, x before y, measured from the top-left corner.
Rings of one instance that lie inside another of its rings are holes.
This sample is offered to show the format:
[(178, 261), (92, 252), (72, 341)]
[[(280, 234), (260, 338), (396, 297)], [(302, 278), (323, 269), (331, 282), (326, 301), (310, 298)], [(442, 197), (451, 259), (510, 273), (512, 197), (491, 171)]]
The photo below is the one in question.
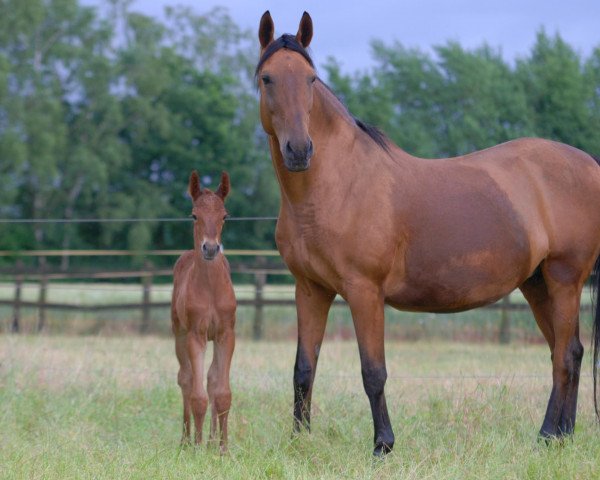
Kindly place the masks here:
[(294, 365), (294, 431), (310, 430), (310, 401), (327, 314), (335, 293), (306, 279), (296, 279), (298, 350)]

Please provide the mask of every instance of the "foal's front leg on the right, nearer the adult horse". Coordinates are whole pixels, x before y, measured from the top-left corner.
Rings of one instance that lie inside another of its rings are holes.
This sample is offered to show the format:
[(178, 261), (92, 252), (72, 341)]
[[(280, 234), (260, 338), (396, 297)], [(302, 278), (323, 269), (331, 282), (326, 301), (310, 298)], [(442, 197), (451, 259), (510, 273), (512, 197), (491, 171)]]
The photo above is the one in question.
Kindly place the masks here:
[[(231, 323), (233, 325), (233, 322)], [(231, 408), (231, 386), (229, 384), (229, 370), (231, 367), (231, 358), (235, 349), (235, 334), (233, 327), (225, 330), (219, 338), (215, 339), (214, 360), (215, 384), (213, 393), (213, 409), (211, 418), (211, 430), (214, 422), (219, 419), (220, 430), (220, 449), (221, 454), (227, 452), (227, 420), (229, 418), (229, 409)], [(212, 368), (212, 365), (211, 365)]]

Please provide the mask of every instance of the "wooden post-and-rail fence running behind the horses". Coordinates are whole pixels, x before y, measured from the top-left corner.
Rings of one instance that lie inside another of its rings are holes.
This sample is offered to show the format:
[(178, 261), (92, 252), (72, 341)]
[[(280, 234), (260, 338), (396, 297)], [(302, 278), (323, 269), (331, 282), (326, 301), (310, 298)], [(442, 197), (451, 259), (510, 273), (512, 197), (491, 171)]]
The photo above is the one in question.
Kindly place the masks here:
[[(180, 251), (153, 251), (143, 252), (144, 255), (179, 255)], [(0, 251), (0, 256), (6, 255), (6, 252)], [(114, 251), (35, 251), (27, 252), (28, 256), (52, 256), (52, 255), (131, 255), (132, 252), (114, 252)], [(140, 254), (138, 252), (138, 254)], [(14, 252), (11, 252), (14, 255)], [(233, 250), (228, 252), (229, 256), (255, 256), (256, 261), (254, 266), (248, 266), (244, 263), (231, 263), (232, 273), (243, 273), (251, 275), (254, 279), (254, 296), (253, 298), (239, 298), (238, 305), (240, 306), (251, 306), (254, 308), (254, 317), (252, 325), (252, 336), (255, 340), (263, 338), (263, 312), (265, 307), (269, 306), (294, 306), (295, 301), (292, 298), (289, 299), (273, 299), (264, 296), (264, 289), (267, 285), (268, 276), (273, 275), (291, 275), (290, 272), (285, 269), (283, 264), (279, 266), (267, 266), (266, 258), (268, 256), (276, 256), (276, 251), (246, 251), (246, 250)], [(25, 256), (25, 255), (22, 255)], [(137, 270), (94, 270), (94, 271), (78, 271), (78, 272), (65, 272), (65, 271), (51, 271), (44, 269), (32, 269), (25, 268), (21, 261), (17, 261), (15, 266), (9, 269), (0, 269), (0, 276), (5, 278), (5, 281), (14, 283), (14, 296), (12, 299), (0, 299), (0, 306), (12, 307), (12, 322), (11, 331), (18, 333), (21, 330), (21, 309), (24, 307), (35, 308), (38, 310), (37, 319), (37, 330), (42, 331), (46, 325), (47, 311), (48, 310), (66, 310), (66, 311), (78, 311), (78, 312), (101, 312), (108, 310), (137, 310), (140, 312), (140, 323), (139, 332), (146, 333), (150, 325), (150, 314), (152, 309), (157, 308), (168, 308), (170, 302), (165, 301), (154, 301), (152, 299), (154, 280), (159, 277), (170, 277), (172, 275), (171, 269), (156, 269), (152, 267), (150, 262), (146, 262), (143, 268)], [(98, 304), (98, 305), (79, 305), (73, 303), (58, 303), (49, 302), (47, 300), (47, 292), (49, 281), (52, 280), (122, 280), (139, 278), (140, 289), (141, 289), (141, 301), (129, 302), (129, 303), (111, 303), (111, 304)], [(25, 301), (23, 300), (23, 284), (24, 282), (36, 282), (39, 286), (39, 294), (37, 301)], [(339, 297), (335, 300), (334, 305), (345, 305), (345, 301)], [(527, 310), (528, 305), (525, 303), (513, 303), (510, 301), (510, 297), (496, 302), (492, 305), (488, 305), (487, 309), (500, 310), (500, 326), (499, 326), (499, 341), (500, 343), (510, 342), (510, 312), (515, 310)], [(584, 309), (589, 309), (589, 305), (582, 306)]]

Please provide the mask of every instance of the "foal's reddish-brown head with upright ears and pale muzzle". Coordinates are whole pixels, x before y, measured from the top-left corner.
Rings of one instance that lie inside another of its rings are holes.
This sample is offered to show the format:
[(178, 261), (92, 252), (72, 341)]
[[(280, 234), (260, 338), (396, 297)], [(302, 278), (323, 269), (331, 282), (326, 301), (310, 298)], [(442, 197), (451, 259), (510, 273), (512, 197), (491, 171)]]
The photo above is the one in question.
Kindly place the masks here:
[(192, 197), (194, 219), (194, 249), (205, 260), (213, 260), (222, 251), (221, 231), (227, 217), (225, 197), (229, 193), (229, 175), (223, 172), (216, 192), (203, 189), (195, 170), (190, 175), (188, 192)]

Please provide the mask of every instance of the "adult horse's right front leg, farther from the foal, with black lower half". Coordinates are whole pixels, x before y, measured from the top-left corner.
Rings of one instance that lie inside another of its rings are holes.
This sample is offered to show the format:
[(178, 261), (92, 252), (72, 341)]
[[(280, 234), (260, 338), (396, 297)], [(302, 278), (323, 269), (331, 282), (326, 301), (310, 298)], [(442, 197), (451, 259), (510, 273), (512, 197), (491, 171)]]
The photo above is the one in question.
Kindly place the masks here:
[(383, 341), (383, 294), (378, 286), (363, 282), (348, 289), (347, 300), (358, 340), (363, 385), (373, 415), (373, 455), (382, 456), (394, 446), (394, 432), (383, 391), (387, 379)]

